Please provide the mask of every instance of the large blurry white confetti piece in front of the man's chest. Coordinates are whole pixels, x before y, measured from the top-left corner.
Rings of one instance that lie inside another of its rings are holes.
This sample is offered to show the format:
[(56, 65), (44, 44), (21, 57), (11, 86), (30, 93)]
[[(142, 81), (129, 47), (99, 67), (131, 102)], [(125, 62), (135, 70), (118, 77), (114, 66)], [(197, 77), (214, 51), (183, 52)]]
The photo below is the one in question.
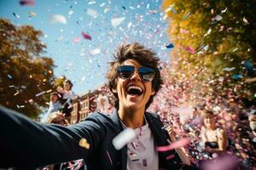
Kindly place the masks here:
[(136, 132), (131, 128), (125, 128), (124, 131), (119, 133), (112, 141), (113, 146), (116, 150), (120, 150), (125, 146), (125, 144), (131, 142), (132, 139), (135, 139)]

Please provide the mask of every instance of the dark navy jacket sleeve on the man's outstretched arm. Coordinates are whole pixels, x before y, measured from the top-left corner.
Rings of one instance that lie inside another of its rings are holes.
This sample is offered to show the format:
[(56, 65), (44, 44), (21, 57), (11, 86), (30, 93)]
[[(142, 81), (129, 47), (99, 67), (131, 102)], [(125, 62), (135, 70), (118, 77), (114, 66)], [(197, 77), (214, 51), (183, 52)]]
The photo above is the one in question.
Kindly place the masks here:
[[(0, 168), (42, 167), (90, 156), (105, 135), (97, 114), (84, 122), (62, 127), (38, 123), (0, 107)], [(89, 149), (79, 146), (86, 139)]]

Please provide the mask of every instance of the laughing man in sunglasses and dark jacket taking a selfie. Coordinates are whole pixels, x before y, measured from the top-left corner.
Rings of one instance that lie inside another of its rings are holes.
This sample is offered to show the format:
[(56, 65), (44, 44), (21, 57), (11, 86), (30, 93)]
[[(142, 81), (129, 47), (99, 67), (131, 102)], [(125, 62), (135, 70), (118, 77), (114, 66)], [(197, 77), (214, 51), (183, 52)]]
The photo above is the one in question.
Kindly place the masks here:
[[(170, 142), (159, 116), (146, 112), (162, 84), (158, 61), (137, 42), (117, 49), (108, 71), (116, 97), (111, 116), (94, 113), (84, 122), (61, 127), (32, 122), (2, 108), (0, 167), (40, 167), (84, 158), (88, 170), (194, 169), (183, 165), (175, 150), (156, 150)], [(113, 138), (127, 127), (137, 137), (116, 150)]]

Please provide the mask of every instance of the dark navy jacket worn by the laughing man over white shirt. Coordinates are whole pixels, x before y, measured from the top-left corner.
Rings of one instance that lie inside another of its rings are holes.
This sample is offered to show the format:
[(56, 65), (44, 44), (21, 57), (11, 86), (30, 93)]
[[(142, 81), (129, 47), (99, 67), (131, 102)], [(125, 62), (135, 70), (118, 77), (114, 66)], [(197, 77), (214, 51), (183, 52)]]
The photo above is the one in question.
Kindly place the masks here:
[[(159, 116), (146, 112), (145, 117), (154, 135), (154, 143), (167, 145), (169, 135)], [(115, 150), (112, 144), (113, 138), (122, 130), (117, 112), (111, 116), (92, 113), (84, 122), (62, 127), (33, 122), (15, 111), (0, 107), (0, 168), (31, 169), (84, 158), (88, 170), (125, 170), (127, 146)], [(79, 146), (82, 138), (90, 144), (89, 150)], [(167, 160), (166, 156), (172, 154), (175, 157)], [(174, 150), (159, 152), (159, 167), (194, 169), (183, 166)]]

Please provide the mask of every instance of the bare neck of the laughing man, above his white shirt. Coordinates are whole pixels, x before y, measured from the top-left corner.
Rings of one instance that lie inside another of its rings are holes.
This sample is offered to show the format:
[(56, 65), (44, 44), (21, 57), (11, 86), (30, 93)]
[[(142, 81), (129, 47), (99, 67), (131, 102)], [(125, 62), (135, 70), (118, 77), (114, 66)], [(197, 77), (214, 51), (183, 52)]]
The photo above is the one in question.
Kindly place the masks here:
[(137, 111), (131, 111), (121, 107), (118, 112), (120, 120), (126, 127), (136, 129), (142, 127), (144, 124), (144, 111), (144, 108), (138, 109)]

